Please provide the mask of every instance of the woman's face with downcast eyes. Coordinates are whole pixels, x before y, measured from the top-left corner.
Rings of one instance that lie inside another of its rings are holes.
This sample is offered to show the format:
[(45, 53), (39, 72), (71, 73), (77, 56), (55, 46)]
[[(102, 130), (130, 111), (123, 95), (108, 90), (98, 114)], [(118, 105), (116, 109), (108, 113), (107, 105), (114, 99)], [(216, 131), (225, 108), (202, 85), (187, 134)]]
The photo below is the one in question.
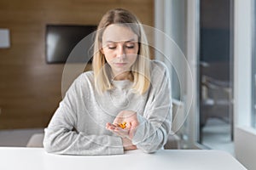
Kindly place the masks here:
[(102, 35), (102, 54), (110, 65), (114, 79), (126, 79), (137, 59), (138, 37), (130, 28), (108, 26)]

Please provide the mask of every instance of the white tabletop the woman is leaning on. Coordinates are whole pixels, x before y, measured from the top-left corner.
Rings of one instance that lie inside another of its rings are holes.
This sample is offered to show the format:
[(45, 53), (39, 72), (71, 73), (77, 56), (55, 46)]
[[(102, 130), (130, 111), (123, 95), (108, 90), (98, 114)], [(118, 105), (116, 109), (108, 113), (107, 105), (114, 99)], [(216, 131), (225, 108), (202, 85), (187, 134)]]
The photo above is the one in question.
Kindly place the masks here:
[(60, 156), (43, 148), (0, 147), (1, 170), (241, 170), (230, 154), (219, 150), (140, 150), (115, 156)]

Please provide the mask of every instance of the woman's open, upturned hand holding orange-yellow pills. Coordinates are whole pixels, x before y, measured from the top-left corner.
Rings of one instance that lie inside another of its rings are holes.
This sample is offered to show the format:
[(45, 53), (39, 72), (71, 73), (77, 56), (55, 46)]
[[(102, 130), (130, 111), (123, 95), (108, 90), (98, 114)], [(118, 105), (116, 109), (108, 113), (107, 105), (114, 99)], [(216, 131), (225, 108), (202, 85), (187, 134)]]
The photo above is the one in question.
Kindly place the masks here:
[[(125, 123), (125, 127), (120, 124)], [(122, 138), (132, 139), (139, 122), (135, 111), (121, 111), (113, 120), (113, 123), (107, 123), (106, 128)]]

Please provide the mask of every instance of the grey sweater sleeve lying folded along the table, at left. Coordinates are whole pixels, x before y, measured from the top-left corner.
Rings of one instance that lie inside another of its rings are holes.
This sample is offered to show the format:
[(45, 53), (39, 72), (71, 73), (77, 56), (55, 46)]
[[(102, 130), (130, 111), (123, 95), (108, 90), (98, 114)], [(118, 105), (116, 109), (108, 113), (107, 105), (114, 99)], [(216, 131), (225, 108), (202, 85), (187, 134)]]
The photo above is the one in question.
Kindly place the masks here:
[(78, 79), (73, 82), (49, 126), (44, 129), (44, 149), (49, 153), (63, 155), (123, 154), (121, 138), (110, 135), (88, 135), (74, 129), (78, 122), (76, 114), (79, 105), (79, 83)]

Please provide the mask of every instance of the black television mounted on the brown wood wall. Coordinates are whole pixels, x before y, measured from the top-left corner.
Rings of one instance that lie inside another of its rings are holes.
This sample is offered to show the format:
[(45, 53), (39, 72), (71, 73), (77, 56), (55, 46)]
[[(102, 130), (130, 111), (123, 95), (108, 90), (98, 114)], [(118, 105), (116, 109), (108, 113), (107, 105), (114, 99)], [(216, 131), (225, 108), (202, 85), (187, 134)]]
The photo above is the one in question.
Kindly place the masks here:
[[(46, 62), (48, 64), (66, 63), (67, 59), (68, 62), (73, 63), (91, 62), (94, 31), (96, 26), (92, 25), (46, 25)], [(78, 44), (80, 49), (77, 47)], [(73, 50), (75, 47), (78, 49)]]

